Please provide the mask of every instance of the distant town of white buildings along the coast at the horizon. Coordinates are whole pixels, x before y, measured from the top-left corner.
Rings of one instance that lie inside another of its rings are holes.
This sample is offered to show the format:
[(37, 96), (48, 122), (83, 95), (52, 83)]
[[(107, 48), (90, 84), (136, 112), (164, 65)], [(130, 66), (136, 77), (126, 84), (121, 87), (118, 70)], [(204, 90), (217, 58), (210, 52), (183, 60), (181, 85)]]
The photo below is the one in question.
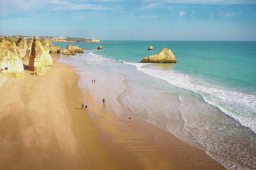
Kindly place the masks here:
[[(26, 35), (0, 35), (1, 37), (8, 37), (13, 39), (14, 41), (18, 40), (19, 38), (24, 38), (24, 39), (30, 39), (33, 40), (34, 37), (31, 36), (26, 36)], [(87, 39), (87, 38), (76, 38), (76, 37), (55, 37), (55, 36), (38, 36), (38, 39), (45, 39), (49, 42), (100, 42), (99, 39)]]

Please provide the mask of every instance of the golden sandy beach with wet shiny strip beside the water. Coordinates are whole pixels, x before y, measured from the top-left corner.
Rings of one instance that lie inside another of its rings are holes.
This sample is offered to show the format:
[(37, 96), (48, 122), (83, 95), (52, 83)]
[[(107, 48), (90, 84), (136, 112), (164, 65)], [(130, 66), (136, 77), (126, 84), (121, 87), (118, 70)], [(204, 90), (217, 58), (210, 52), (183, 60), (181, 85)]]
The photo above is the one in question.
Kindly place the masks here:
[(53, 61), (35, 76), (23, 65), (25, 78), (0, 77), (0, 169), (225, 169), (120, 105), (121, 75)]

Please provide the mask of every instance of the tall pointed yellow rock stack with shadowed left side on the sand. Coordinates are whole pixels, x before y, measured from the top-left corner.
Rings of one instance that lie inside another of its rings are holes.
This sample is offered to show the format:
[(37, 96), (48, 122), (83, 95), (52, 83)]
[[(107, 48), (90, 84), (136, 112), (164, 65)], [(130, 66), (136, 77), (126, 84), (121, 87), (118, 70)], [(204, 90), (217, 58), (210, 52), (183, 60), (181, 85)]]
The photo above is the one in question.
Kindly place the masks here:
[(46, 71), (46, 68), (52, 66), (52, 58), (49, 54), (50, 47), (46, 41), (38, 41), (38, 37), (34, 37), (32, 43), (31, 54), (28, 69), (40, 73)]

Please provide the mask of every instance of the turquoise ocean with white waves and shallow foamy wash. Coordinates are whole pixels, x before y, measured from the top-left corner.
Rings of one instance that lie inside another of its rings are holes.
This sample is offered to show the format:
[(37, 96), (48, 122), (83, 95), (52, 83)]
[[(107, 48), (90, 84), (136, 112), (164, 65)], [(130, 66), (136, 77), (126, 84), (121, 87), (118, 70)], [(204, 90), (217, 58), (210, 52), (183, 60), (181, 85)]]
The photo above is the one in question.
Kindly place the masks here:
[[(68, 44), (54, 45), (66, 48)], [(122, 75), (124, 91), (117, 101), (135, 116), (204, 150), (227, 169), (256, 169), (255, 41), (71, 45), (103, 47), (84, 50), (65, 62), (80, 70), (90, 64)], [(177, 63), (139, 63), (162, 48), (172, 50)]]

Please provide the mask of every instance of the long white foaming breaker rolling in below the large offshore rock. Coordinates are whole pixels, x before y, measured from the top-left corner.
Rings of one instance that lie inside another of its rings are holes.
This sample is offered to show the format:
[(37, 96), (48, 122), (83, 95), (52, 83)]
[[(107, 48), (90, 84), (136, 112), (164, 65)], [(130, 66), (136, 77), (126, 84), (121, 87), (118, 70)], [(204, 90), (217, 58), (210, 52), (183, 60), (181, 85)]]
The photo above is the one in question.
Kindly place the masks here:
[[(195, 81), (195, 78), (175, 73), (170, 70), (156, 70), (143, 68), (143, 65), (150, 63), (129, 63), (136, 66), (137, 70), (142, 71), (150, 76), (165, 80), (174, 86), (199, 93), (205, 102), (218, 107), (224, 114), (232, 117), (242, 126), (249, 128), (253, 133), (256, 133), (256, 96), (245, 94), (237, 91), (223, 89), (218, 86), (208, 85), (203, 81)], [(193, 83), (192, 83), (193, 82)], [(194, 83), (195, 82), (195, 83)], [(196, 82), (199, 82), (196, 84)]]

